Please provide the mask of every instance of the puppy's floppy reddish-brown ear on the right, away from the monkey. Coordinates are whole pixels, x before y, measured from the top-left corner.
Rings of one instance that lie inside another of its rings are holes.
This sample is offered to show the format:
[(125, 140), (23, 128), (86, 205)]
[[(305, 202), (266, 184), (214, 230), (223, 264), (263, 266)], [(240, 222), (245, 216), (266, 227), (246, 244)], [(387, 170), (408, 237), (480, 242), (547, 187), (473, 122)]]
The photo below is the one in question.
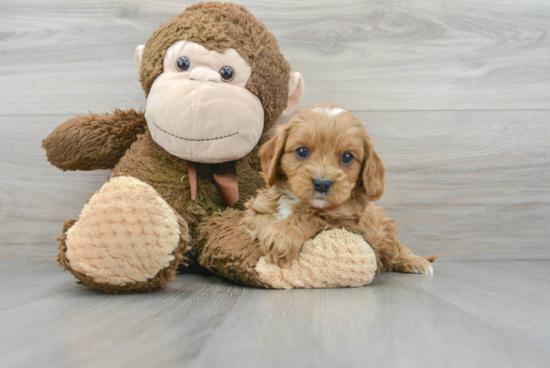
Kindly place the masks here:
[(365, 159), (363, 160), (363, 171), (361, 181), (365, 194), (369, 201), (377, 201), (384, 194), (384, 176), (386, 169), (382, 160), (374, 151), (374, 141), (365, 133)]

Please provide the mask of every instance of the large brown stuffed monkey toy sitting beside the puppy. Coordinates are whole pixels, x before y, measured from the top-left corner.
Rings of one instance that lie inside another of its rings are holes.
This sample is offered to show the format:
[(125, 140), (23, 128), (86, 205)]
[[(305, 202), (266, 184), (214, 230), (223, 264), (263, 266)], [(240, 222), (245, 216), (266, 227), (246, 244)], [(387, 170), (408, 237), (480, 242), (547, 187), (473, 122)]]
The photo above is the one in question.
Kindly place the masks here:
[[(333, 276), (308, 281), (300, 276), (309, 267), (302, 254), (294, 271), (262, 263), (247, 234), (233, 229), (244, 203), (264, 186), (259, 146), (304, 93), (273, 34), (242, 6), (199, 3), (138, 46), (135, 62), (145, 113), (78, 116), (43, 141), (48, 160), (62, 170), (112, 170), (79, 218), (65, 221), (60, 265), (81, 283), (114, 293), (162, 288), (190, 259), (257, 287), (354, 286)], [(231, 242), (209, 238), (217, 224), (216, 236), (227, 230)], [(370, 249), (346, 232), (320, 235), (304, 256), (342, 245)], [(370, 282), (371, 271), (359, 283)]]

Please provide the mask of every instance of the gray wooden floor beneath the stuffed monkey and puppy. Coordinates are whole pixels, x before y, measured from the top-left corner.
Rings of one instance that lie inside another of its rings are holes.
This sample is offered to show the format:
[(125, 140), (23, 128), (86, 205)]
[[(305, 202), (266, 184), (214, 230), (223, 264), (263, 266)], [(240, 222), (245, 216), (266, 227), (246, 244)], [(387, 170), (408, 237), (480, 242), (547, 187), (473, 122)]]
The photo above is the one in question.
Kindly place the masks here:
[(366, 287), (258, 290), (181, 275), (109, 295), (0, 262), (0, 367), (548, 367), (550, 261), (439, 262)]

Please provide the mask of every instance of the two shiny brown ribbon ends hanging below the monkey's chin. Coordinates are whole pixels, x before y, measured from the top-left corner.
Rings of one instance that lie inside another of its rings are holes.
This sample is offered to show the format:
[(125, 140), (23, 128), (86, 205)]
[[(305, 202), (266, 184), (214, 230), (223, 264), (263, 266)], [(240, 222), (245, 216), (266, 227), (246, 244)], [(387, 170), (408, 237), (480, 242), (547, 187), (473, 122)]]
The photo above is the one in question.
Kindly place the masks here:
[[(191, 188), (191, 199), (197, 200), (197, 168), (194, 162), (187, 161), (189, 174), (189, 186)], [(212, 165), (213, 177), (216, 182), (218, 193), (226, 206), (232, 207), (239, 200), (239, 183), (237, 181), (237, 170), (235, 162), (224, 162)]]

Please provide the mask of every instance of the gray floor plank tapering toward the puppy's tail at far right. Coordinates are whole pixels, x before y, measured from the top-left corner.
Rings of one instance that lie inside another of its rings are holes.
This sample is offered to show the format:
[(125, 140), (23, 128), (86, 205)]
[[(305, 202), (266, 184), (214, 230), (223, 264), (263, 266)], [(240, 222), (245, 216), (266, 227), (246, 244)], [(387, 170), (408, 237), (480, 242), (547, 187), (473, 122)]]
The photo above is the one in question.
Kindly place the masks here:
[(550, 351), (548, 261), (474, 261), (435, 265), (437, 277), (395, 280), (446, 302)]

